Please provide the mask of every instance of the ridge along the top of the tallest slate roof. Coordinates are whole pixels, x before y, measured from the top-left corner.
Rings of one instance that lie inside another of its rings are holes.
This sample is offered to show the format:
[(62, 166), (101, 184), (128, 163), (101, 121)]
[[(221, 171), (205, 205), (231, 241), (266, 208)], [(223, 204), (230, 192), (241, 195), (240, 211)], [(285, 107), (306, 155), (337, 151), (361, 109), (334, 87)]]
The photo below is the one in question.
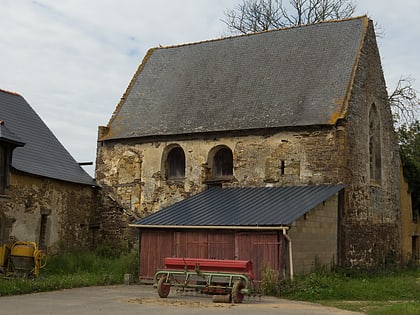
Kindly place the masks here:
[(328, 24), (328, 23), (347, 22), (347, 21), (353, 21), (353, 20), (358, 20), (358, 19), (368, 19), (368, 16), (365, 14), (365, 15), (359, 15), (359, 16), (349, 17), (349, 18), (345, 18), (345, 19), (324, 20), (324, 21), (320, 21), (320, 22), (316, 22), (316, 23), (292, 25), (292, 26), (286, 26), (286, 27), (276, 28), (276, 29), (269, 29), (269, 30), (259, 31), (259, 32), (250, 32), (250, 33), (246, 33), (246, 34), (239, 34), (239, 35), (231, 35), (231, 36), (220, 37), (220, 38), (206, 39), (206, 40), (201, 40), (201, 41), (198, 41), (198, 42), (190, 42), (190, 43), (175, 44), (175, 45), (168, 45), (168, 46), (159, 45), (157, 47), (154, 47), (154, 49), (171, 49), (171, 48), (180, 48), (180, 47), (184, 47), (184, 46), (194, 46), (194, 45), (218, 42), (218, 41), (223, 41), (223, 40), (228, 40), (228, 39), (233, 39), (233, 38), (241, 38), (241, 37), (260, 35), (260, 34), (265, 34), (265, 33), (281, 32), (281, 31), (287, 31), (287, 30), (296, 29), (296, 28), (312, 27), (312, 26), (318, 26), (318, 25), (321, 25), (321, 24)]

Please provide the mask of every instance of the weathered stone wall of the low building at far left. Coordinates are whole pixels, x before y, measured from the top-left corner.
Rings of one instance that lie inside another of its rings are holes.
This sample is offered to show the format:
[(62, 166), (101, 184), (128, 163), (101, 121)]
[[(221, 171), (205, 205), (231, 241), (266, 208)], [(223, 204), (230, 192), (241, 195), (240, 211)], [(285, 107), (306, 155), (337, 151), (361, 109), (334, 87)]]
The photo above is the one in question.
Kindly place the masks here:
[(49, 251), (59, 246), (90, 247), (98, 226), (93, 221), (96, 190), (12, 172), (10, 187), (0, 198), (0, 242), (37, 242)]

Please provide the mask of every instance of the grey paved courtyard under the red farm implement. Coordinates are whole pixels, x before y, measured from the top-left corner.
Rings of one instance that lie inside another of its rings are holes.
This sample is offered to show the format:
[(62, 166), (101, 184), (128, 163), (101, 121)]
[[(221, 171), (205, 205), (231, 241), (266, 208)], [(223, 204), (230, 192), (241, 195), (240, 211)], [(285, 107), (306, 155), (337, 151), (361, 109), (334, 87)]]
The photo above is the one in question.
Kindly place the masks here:
[(118, 285), (60, 290), (29, 295), (0, 297), (4, 315), (107, 315), (107, 314), (228, 314), (228, 315), (355, 315), (318, 304), (288, 301), (273, 297), (251, 298), (242, 304), (213, 303), (209, 296), (171, 291), (168, 298), (158, 297), (147, 285)]

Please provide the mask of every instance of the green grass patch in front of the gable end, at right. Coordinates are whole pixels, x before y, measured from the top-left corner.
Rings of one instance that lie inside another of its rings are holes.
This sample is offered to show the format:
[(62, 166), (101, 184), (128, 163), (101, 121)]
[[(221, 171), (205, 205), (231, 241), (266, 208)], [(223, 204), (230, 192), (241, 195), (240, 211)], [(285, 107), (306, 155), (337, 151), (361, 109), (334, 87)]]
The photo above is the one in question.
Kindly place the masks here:
[(369, 315), (420, 314), (420, 270), (348, 275), (314, 272), (281, 284), (280, 296)]

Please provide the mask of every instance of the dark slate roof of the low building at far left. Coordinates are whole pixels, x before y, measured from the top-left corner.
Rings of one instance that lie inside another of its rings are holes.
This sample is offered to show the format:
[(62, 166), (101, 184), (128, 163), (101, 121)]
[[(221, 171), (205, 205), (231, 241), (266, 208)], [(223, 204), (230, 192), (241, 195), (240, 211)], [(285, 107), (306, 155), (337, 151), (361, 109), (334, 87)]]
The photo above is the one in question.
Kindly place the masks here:
[(0, 90), (0, 120), (4, 122), (1, 131), (24, 144), (13, 151), (13, 168), (33, 175), (96, 185), (22, 96)]

